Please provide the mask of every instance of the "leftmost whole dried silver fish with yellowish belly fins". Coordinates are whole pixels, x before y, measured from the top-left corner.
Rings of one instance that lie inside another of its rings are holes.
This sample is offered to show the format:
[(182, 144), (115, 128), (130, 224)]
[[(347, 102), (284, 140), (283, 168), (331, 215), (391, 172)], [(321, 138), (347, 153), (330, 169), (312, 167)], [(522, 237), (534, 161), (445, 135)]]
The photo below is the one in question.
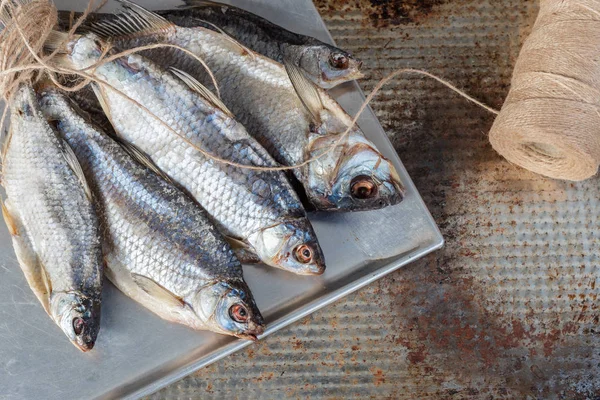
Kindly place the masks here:
[(17, 259), (46, 312), (71, 342), (91, 350), (100, 329), (98, 219), (68, 146), (46, 122), (33, 89), (11, 102), (2, 184)]

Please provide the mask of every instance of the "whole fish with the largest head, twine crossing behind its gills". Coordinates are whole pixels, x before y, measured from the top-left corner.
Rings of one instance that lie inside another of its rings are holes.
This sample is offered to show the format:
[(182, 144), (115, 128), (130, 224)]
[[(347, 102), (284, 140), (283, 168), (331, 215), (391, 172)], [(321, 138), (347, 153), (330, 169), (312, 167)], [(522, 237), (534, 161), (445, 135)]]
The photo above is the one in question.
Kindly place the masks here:
[[(350, 116), (326, 91), (314, 87), (301, 73), (292, 74), (290, 68), (294, 67), (288, 65), (286, 69), (259, 54), (248, 53), (212, 30), (176, 26), (141, 8), (127, 7), (124, 15), (147, 18), (151, 27), (136, 33), (113, 20), (99, 22), (94, 29), (116, 35), (113, 39), (122, 48), (169, 43), (202, 58), (216, 78), (224, 103), (279, 163), (299, 165), (321, 156), (326, 149), (320, 144), (327, 138), (339, 140), (351, 124)], [(190, 73), (207, 86), (211, 84), (204, 67), (178, 49), (161, 48), (146, 55), (165, 67)], [(296, 85), (306, 90), (300, 91)], [(359, 147), (352, 148), (359, 143)], [(293, 171), (316, 209), (373, 210), (402, 200), (403, 187), (393, 165), (359, 128), (351, 129), (338, 145), (338, 150), (327, 157)], [(339, 151), (342, 148), (343, 154)], [(358, 168), (359, 159), (364, 163)]]

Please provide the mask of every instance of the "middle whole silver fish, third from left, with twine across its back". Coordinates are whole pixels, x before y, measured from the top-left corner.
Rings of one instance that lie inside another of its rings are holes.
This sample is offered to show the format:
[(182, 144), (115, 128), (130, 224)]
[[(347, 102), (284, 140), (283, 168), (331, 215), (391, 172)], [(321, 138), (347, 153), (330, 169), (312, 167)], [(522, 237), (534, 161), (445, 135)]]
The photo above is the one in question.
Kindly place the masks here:
[[(93, 35), (79, 37), (69, 49), (67, 62), (80, 69), (102, 53)], [(232, 166), (203, 154), (276, 166), (231, 115), (139, 55), (105, 63), (94, 75), (106, 82), (98, 92), (116, 132), (190, 193), (226, 236), (268, 265), (298, 274), (323, 272), (316, 235), (283, 173)], [(297, 256), (307, 251), (309, 258)]]

